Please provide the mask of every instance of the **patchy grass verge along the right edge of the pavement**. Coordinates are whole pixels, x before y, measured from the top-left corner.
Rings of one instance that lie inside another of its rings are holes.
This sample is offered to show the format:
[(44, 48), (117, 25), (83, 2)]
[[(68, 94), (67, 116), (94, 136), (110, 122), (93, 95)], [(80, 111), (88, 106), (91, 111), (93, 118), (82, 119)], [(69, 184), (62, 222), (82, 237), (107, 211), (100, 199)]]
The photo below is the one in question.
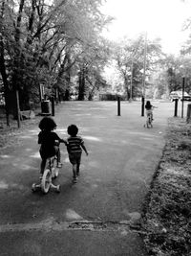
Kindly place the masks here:
[(191, 125), (184, 119), (169, 119), (142, 226), (149, 255), (191, 255)]

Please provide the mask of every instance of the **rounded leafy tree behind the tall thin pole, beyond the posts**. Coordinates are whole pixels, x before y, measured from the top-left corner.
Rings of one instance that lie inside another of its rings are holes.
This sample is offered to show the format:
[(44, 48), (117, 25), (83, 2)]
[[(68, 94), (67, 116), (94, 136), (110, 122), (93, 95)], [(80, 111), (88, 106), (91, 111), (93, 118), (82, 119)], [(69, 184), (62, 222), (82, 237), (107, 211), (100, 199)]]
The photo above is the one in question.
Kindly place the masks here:
[[(114, 51), (117, 69), (121, 74), (126, 90), (127, 99), (130, 97), (130, 85), (133, 83), (133, 95), (140, 96), (142, 93), (142, 74), (144, 58), (144, 36), (139, 35), (136, 39), (124, 38)], [(159, 39), (147, 41), (146, 77), (149, 78), (155, 71), (161, 56)], [(132, 81), (131, 81), (132, 80)], [(146, 83), (148, 85), (148, 82)]]

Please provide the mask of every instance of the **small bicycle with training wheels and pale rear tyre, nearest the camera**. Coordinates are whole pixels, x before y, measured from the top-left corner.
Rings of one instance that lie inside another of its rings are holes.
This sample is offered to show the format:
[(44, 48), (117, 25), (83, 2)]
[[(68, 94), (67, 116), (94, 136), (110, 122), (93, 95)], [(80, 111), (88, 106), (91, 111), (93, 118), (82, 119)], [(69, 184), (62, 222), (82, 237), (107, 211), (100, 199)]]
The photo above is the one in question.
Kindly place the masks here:
[(57, 157), (53, 155), (47, 159), (47, 167), (42, 175), (39, 184), (32, 184), (32, 192), (41, 190), (43, 194), (47, 194), (51, 188), (57, 193), (60, 192), (60, 185), (53, 184), (53, 178), (56, 178), (59, 174), (59, 167), (57, 167)]

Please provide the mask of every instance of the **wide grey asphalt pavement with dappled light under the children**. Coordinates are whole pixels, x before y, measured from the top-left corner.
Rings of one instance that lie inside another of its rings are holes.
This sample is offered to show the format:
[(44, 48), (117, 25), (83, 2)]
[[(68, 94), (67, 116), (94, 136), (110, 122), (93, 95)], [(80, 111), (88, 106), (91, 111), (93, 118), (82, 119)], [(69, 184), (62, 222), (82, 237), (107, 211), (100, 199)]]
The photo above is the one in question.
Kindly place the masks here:
[[(0, 153), (0, 255), (146, 256), (136, 226), (165, 143), (172, 103), (153, 103), (154, 128), (143, 128), (140, 103), (68, 102), (56, 112), (57, 133), (75, 124), (89, 156), (80, 177), (61, 145), (61, 193), (32, 193), (40, 158), (36, 127)], [(185, 106), (186, 107), (186, 106)]]

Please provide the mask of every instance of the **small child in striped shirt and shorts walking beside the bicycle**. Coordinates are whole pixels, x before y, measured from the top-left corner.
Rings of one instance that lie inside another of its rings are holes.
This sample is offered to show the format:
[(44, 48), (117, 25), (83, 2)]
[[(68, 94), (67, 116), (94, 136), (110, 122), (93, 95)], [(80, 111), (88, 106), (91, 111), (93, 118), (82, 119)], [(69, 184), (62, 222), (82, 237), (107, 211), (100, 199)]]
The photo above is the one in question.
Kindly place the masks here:
[(78, 128), (75, 125), (68, 127), (68, 134), (70, 137), (67, 139), (67, 150), (69, 153), (69, 160), (73, 165), (73, 182), (76, 183), (77, 176), (79, 175), (79, 166), (81, 162), (82, 149), (88, 155), (88, 151), (84, 146), (84, 141), (80, 136), (77, 136)]

